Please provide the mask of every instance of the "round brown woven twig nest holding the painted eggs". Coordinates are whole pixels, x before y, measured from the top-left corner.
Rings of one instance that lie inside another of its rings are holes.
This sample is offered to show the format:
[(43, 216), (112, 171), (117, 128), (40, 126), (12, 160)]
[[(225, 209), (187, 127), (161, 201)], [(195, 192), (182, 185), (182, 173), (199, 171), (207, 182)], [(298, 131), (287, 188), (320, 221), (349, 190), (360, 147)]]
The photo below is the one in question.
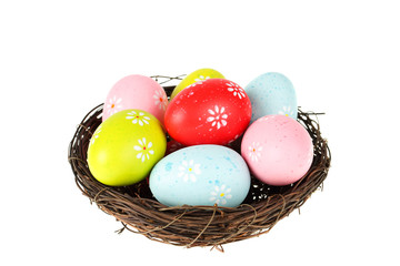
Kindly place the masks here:
[[(173, 86), (164, 86), (168, 95)], [(99, 183), (90, 173), (87, 151), (90, 137), (101, 123), (102, 104), (91, 110), (79, 124), (69, 146), (68, 160), (78, 187), (100, 209), (120, 221), (123, 227), (150, 239), (178, 246), (212, 246), (247, 239), (268, 233), (281, 218), (299, 208), (327, 177), (330, 151), (322, 139), (314, 113), (299, 109), (298, 121), (310, 133), (314, 146), (308, 173), (294, 184), (269, 186), (251, 177), (250, 192), (238, 207), (168, 207), (151, 194), (147, 181), (111, 187)], [(223, 249), (222, 249), (223, 250)]]

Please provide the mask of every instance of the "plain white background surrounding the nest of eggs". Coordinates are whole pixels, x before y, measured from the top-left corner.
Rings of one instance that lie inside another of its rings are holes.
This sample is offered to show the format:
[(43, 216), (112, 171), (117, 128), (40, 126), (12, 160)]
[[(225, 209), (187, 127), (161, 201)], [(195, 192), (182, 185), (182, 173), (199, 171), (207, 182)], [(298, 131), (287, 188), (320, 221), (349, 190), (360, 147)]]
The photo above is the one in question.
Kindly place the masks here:
[[(399, 24), (383, 0), (1, 1), (0, 264), (399, 265)], [(200, 68), (286, 74), (332, 151), (301, 215), (223, 254), (116, 234), (67, 160), (119, 79)]]

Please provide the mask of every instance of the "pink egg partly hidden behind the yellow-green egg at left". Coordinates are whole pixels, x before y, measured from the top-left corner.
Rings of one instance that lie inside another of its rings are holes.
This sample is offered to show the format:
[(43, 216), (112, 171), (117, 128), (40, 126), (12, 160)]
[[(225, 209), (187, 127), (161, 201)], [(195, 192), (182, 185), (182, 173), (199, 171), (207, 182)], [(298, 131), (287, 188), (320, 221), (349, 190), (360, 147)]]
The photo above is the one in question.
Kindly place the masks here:
[(139, 109), (154, 115), (162, 124), (168, 99), (162, 86), (149, 76), (132, 74), (119, 80), (107, 95), (102, 121), (127, 109)]

